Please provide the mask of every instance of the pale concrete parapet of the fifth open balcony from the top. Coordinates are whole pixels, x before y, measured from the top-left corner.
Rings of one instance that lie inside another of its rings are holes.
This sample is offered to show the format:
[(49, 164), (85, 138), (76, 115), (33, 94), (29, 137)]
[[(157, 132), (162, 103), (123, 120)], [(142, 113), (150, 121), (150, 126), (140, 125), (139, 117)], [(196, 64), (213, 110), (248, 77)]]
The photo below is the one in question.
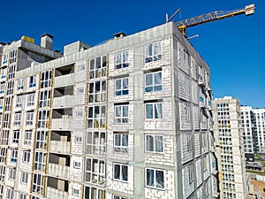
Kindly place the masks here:
[[(65, 165), (57, 165), (51, 164), (48, 165), (48, 174), (60, 179), (68, 179), (69, 178), (69, 166)], [(61, 197), (55, 197), (61, 198)]]

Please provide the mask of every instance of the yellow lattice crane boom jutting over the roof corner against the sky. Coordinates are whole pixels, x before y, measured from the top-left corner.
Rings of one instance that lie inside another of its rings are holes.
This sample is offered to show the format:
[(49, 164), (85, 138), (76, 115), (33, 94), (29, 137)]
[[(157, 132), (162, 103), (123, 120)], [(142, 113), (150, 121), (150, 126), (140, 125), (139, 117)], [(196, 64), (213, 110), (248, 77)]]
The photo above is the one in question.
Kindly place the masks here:
[(246, 16), (254, 14), (254, 4), (246, 5), (245, 8), (234, 11), (213, 11), (201, 16), (193, 17), (191, 19), (184, 19), (176, 22), (178, 29), (182, 34), (186, 35), (187, 27), (194, 27), (199, 24), (207, 23), (213, 20), (220, 20), (230, 18), (239, 14), (246, 14)]

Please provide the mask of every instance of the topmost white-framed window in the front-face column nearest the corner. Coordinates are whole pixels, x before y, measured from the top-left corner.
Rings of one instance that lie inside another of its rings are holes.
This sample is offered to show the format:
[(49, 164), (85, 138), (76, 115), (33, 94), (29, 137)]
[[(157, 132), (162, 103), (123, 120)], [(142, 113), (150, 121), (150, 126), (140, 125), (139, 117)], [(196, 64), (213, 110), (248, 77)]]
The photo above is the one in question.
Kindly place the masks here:
[(161, 42), (153, 42), (145, 46), (145, 63), (151, 63), (162, 59)]

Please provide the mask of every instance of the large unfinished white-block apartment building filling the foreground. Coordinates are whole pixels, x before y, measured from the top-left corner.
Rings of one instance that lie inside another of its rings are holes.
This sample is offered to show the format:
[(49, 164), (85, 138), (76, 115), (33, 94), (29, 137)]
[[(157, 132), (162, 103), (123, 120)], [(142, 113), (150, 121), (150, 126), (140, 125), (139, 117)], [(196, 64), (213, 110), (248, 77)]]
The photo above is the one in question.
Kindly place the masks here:
[(13, 46), (0, 69), (0, 198), (218, 196), (209, 68), (174, 23), (73, 42), (48, 62), (54, 52), (34, 45), (44, 63)]

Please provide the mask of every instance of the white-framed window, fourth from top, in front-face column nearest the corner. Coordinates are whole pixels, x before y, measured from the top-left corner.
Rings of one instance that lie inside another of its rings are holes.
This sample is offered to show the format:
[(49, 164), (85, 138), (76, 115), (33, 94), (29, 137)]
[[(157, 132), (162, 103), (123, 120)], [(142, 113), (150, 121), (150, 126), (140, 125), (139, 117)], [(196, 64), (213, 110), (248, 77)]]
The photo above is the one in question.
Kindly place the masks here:
[(146, 134), (146, 152), (163, 153), (163, 135)]

